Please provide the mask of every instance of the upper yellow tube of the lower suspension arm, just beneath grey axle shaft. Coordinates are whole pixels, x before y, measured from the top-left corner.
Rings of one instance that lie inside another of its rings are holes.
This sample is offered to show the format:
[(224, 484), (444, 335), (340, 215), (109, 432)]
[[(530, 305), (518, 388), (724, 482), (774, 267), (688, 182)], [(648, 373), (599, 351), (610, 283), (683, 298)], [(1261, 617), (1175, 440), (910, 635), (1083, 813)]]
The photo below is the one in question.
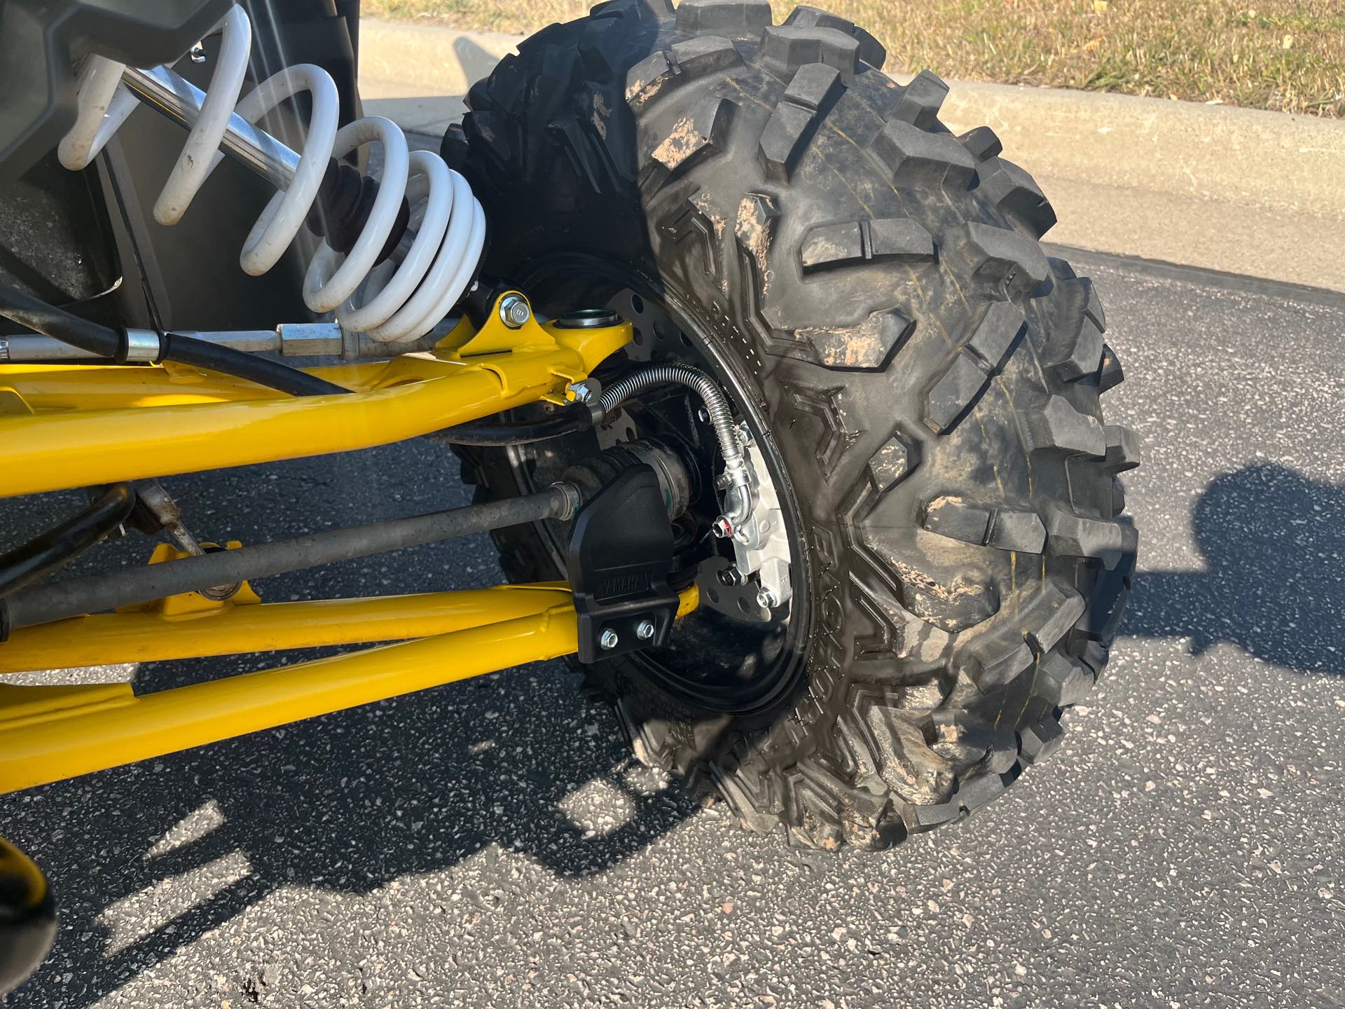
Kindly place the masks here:
[(565, 583), (539, 583), (412, 596), (223, 604), (180, 616), (155, 611), (78, 616), (13, 631), (0, 644), (0, 674), (432, 638), (527, 616), (568, 600), (569, 592)]

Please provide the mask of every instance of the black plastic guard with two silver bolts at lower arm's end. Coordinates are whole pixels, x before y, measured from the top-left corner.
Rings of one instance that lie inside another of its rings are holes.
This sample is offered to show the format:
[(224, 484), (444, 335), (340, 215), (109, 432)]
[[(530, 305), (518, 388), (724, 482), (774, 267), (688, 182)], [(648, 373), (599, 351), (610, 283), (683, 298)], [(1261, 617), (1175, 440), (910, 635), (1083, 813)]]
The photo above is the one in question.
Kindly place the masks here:
[(621, 470), (580, 509), (566, 553), (580, 662), (667, 643), (678, 612), (668, 585), (672, 526), (654, 470)]

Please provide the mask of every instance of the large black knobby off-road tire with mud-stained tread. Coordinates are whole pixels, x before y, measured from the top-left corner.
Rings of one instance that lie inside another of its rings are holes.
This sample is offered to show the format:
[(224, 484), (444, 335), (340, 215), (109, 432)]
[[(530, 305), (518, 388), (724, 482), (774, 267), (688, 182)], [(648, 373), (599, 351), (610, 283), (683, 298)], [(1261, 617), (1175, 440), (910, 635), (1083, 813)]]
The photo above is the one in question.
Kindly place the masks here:
[[(1137, 440), (1099, 405), (1120, 363), (1038, 245), (1050, 204), (990, 129), (948, 132), (939, 78), (884, 59), (811, 8), (613, 0), (526, 40), (444, 143), (491, 276), (629, 262), (748, 377), (806, 522), (806, 675), (741, 718), (589, 675), (643, 760), (820, 848), (955, 821), (1056, 749), (1137, 542)], [(502, 459), (467, 459), (482, 495), (518, 492)], [(511, 577), (555, 577), (535, 531), (498, 542)]]

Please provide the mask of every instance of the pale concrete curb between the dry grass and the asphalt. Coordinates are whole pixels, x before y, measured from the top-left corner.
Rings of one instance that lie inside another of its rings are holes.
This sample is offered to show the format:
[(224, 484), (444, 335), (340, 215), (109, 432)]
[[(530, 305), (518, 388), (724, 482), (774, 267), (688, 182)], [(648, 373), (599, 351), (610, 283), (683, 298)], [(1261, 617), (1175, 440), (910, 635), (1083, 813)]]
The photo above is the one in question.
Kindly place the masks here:
[[(521, 36), (363, 22), (370, 112), (438, 135)], [(900, 75), (897, 79), (904, 79)], [(1345, 122), (954, 81), (943, 120), (991, 126), (1060, 223), (1052, 242), (1345, 291)]]

